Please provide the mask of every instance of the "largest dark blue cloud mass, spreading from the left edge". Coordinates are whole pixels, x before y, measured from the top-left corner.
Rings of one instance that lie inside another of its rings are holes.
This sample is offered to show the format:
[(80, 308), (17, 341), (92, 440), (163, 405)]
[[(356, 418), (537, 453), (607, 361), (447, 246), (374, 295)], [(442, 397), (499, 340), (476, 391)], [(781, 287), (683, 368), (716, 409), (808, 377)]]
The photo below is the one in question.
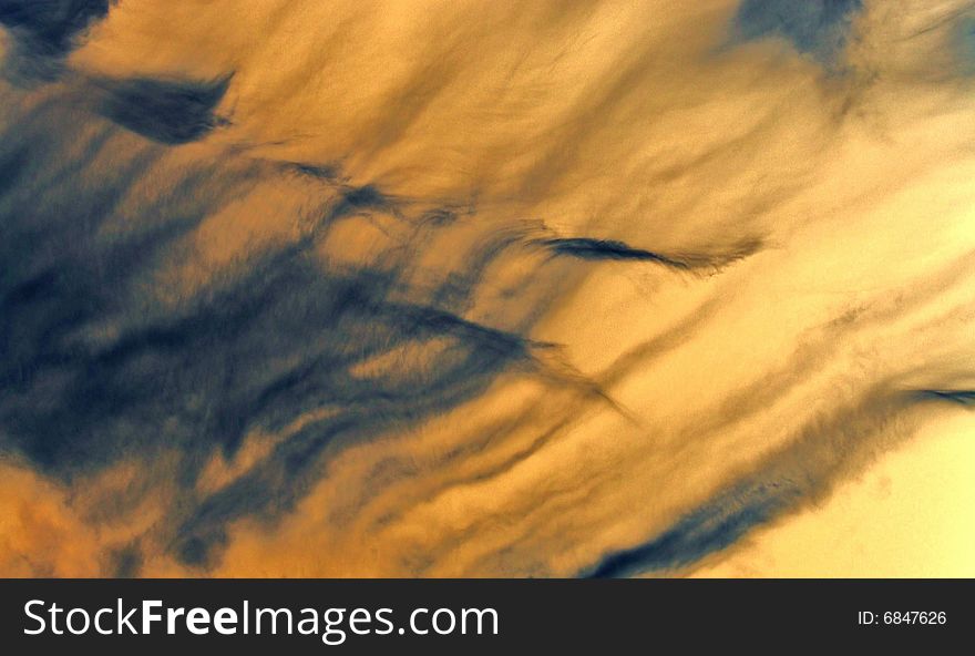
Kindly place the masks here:
[[(135, 95), (145, 90), (141, 83)], [(154, 110), (158, 94), (135, 102), (132, 92), (124, 88), (132, 101), (125, 112)], [(3, 100), (13, 112), (18, 93)], [(208, 104), (189, 114), (205, 117)], [(211, 295), (163, 307), (145, 290), (166, 263), (185, 257), (181, 237), (258, 181), (295, 170), (201, 160), (125, 209), (133, 185), (165, 157), (167, 146), (156, 142), (195, 135), (183, 131), (182, 99), (175, 107), (174, 121), (157, 112), (112, 116), (151, 141), (63, 98), (27, 105), (0, 134), (0, 454), (72, 481), (127, 458), (178, 453), (171, 549), (206, 565), (226, 522), (273, 520), (292, 508), (338, 444), (402, 430), (476, 397), (505, 369), (532, 367), (535, 345), (463, 317), (506, 238), (474, 245), (465, 270), (418, 290), (404, 286), (409, 249), (377, 266), (330, 270), (305, 239), (254, 255)], [(310, 174), (319, 177), (317, 168)], [(329, 188), (317, 234), (350, 215), (401, 214), (399, 201), (376, 186)], [(429, 216), (414, 219), (421, 234), (450, 229), (451, 222)], [(432, 338), (447, 347), (422, 368), (355, 371)], [(233, 455), (248, 431), (278, 432), (321, 408), (333, 412), (289, 434), (246, 475), (216, 493), (197, 491), (205, 464)], [(116, 571), (136, 572), (137, 545), (116, 560)]]

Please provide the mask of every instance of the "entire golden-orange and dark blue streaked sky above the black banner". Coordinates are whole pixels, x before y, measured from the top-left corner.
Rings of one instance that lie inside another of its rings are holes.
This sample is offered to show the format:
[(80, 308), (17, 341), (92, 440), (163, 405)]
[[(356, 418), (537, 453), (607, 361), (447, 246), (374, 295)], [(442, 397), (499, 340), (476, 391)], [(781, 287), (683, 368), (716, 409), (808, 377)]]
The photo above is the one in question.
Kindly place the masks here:
[(0, 574), (975, 575), (973, 25), (0, 0)]

